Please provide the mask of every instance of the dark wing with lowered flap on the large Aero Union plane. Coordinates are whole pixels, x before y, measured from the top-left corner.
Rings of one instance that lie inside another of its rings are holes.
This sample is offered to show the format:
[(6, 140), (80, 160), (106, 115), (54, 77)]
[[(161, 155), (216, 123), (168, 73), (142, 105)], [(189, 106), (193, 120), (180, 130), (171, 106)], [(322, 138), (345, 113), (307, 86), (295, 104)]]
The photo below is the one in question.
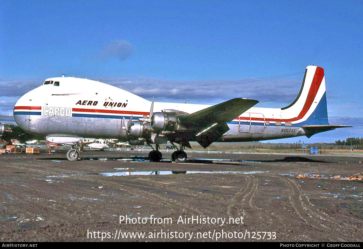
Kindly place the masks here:
[(180, 122), (187, 130), (194, 131), (197, 142), (207, 148), (229, 130), (227, 122), (257, 103), (258, 101), (254, 99), (234, 98), (180, 117)]

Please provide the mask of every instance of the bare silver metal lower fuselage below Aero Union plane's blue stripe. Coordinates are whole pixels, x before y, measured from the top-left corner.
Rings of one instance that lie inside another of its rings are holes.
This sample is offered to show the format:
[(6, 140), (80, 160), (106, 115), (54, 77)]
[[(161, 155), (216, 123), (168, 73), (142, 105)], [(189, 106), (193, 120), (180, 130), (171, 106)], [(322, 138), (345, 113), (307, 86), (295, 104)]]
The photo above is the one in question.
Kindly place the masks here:
[[(49, 117), (44, 115), (16, 115), (20, 127), (26, 127), (37, 136), (72, 136), (93, 138), (118, 138), (126, 142), (122, 118)], [(126, 117), (129, 118), (129, 117)], [(219, 142), (246, 142), (290, 138), (305, 135), (302, 127), (228, 123), (230, 128)]]

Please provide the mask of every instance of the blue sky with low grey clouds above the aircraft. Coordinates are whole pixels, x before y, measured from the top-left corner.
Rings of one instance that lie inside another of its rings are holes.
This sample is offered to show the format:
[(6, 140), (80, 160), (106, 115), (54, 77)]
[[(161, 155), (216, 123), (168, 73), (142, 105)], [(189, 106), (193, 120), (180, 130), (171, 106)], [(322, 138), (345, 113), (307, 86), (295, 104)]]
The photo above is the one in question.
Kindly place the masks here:
[(1, 115), (11, 114), (26, 91), (62, 73), (134, 93), (301, 73), (155, 96), (208, 104), (248, 97), (261, 107), (282, 107), (314, 64), (325, 69), (330, 123), (355, 127), (301, 140), (363, 136), (362, 1), (0, 3)]

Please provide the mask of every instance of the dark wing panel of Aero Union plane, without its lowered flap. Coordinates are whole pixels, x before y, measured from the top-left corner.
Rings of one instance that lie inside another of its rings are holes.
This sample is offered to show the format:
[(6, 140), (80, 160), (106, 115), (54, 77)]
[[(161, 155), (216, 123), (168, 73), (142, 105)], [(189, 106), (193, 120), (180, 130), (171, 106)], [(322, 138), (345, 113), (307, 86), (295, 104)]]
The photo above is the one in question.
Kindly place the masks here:
[(257, 103), (254, 99), (234, 98), (180, 117), (180, 122), (189, 130), (200, 130), (215, 123), (230, 122)]

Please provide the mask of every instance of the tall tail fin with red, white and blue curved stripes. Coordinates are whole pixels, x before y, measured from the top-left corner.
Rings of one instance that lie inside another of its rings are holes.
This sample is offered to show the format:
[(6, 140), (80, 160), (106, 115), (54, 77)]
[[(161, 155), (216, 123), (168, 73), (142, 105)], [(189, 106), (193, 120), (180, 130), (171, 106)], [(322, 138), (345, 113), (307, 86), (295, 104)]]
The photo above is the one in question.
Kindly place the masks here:
[(329, 125), (324, 69), (314, 65), (307, 66), (297, 98), (281, 110), (284, 116), (295, 117), (294, 123)]

